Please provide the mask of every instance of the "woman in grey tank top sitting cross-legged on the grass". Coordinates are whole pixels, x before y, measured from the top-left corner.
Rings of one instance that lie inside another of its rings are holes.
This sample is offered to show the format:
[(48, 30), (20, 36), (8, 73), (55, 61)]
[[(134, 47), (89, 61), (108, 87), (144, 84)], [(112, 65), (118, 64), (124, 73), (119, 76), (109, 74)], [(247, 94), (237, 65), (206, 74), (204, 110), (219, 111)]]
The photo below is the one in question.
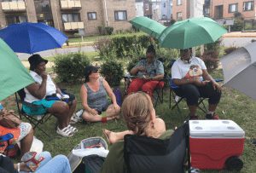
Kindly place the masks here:
[[(82, 118), (87, 122), (108, 121), (118, 118), (120, 107), (108, 82), (100, 77), (98, 67), (86, 66), (84, 70), (85, 83), (80, 89), (84, 112)], [(113, 104), (108, 105), (110, 97)], [(102, 112), (106, 111), (106, 116)]]

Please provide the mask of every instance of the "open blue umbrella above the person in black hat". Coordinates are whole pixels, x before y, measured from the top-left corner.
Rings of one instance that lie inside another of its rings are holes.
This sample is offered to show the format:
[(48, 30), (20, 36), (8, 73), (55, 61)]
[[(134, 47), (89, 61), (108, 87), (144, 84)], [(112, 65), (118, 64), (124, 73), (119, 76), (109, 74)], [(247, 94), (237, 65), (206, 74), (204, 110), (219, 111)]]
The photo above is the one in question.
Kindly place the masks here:
[(15, 52), (27, 54), (61, 48), (67, 41), (67, 36), (54, 27), (30, 22), (10, 25), (0, 30), (0, 37)]

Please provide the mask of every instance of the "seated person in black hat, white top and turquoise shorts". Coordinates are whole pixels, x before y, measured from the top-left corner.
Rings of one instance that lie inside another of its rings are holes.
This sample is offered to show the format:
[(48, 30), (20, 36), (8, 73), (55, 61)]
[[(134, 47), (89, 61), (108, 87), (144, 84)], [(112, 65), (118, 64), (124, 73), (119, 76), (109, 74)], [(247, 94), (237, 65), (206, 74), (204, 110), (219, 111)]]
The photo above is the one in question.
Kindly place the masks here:
[(77, 101), (74, 99), (70, 104), (65, 101), (47, 100), (47, 95), (59, 95), (63, 97), (61, 89), (59, 89), (50, 76), (46, 73), (47, 60), (44, 60), (40, 55), (32, 55), (28, 58), (30, 63), (30, 74), (35, 80), (35, 83), (30, 84), (24, 90), (26, 93), (26, 102), (40, 105), (37, 110), (32, 107), (22, 106), (24, 112), (29, 115), (41, 115), (45, 112), (53, 114), (58, 119), (57, 133), (61, 136), (73, 136), (77, 129), (69, 125), (70, 118), (75, 111)]

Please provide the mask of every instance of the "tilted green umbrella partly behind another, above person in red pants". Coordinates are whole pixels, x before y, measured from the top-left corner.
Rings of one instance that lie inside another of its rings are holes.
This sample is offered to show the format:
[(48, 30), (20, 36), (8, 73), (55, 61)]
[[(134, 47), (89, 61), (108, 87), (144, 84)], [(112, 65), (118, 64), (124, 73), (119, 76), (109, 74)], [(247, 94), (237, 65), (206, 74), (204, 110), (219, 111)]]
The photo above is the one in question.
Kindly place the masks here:
[(160, 33), (166, 29), (166, 26), (163, 26), (159, 22), (151, 20), (148, 17), (144, 16), (133, 18), (129, 22), (132, 24), (132, 26), (143, 32), (148, 33), (150, 36), (155, 38), (158, 38), (160, 36)]

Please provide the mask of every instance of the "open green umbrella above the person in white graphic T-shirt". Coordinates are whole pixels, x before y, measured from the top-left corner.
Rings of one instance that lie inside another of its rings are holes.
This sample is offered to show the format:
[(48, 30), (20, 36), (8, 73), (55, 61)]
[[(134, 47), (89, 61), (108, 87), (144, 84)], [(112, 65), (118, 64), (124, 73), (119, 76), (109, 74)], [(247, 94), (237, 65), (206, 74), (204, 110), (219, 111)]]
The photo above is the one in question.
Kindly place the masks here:
[(160, 47), (187, 49), (205, 43), (214, 43), (227, 30), (210, 18), (191, 18), (169, 26), (160, 34)]

